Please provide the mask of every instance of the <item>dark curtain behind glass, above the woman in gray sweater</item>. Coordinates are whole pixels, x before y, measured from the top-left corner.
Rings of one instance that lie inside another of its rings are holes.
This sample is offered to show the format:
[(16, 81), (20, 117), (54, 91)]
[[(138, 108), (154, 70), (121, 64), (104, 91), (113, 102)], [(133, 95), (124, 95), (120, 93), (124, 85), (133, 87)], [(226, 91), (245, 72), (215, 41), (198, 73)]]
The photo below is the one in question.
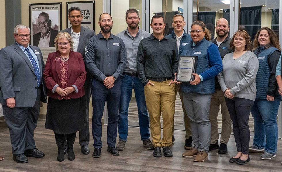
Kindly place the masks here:
[(242, 7), (240, 9), (239, 30), (246, 30), (254, 40), (256, 32), (261, 28), (262, 6)]

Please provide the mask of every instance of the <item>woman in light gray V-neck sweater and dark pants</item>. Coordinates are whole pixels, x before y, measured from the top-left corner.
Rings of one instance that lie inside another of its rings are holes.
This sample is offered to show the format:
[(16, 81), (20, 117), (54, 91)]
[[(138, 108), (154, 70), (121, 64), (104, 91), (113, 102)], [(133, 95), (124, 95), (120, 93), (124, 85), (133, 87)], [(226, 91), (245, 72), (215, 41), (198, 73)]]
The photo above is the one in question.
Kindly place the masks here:
[(256, 99), (255, 78), (259, 63), (256, 55), (249, 51), (250, 36), (245, 30), (235, 32), (230, 47), (234, 52), (224, 56), (218, 81), (226, 97), (238, 152), (229, 161), (243, 165), (250, 161), (249, 115)]

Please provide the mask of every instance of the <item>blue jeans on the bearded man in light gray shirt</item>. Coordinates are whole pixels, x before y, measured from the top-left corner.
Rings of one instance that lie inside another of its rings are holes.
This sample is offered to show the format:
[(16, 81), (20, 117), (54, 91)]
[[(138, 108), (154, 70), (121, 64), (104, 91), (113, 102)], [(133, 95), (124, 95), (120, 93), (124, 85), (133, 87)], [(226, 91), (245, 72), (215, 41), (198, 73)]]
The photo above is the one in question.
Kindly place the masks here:
[(119, 122), (118, 122), (118, 131), (119, 131), (119, 140), (125, 140), (128, 136), (128, 106), (131, 100), (132, 89), (134, 89), (135, 99), (138, 108), (138, 117), (139, 117), (139, 129), (141, 140), (147, 140), (150, 138), (149, 132), (149, 115), (147, 112), (145, 95), (144, 95), (144, 86), (141, 83), (141, 80), (138, 77), (131, 77), (124, 75), (121, 77), (121, 98), (119, 104)]

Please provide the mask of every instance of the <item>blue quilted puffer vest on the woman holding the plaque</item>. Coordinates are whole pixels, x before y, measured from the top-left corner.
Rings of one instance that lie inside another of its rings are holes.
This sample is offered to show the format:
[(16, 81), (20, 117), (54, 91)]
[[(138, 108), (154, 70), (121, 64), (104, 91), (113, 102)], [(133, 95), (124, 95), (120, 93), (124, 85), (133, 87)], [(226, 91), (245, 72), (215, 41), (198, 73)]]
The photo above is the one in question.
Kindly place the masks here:
[[(211, 67), (209, 65), (207, 49), (212, 44), (214, 43), (207, 41), (205, 38), (199, 41), (195, 46), (193, 46), (193, 41), (191, 41), (183, 48), (180, 56), (198, 56), (196, 73), (201, 74)], [(215, 92), (214, 77), (205, 81), (201, 81), (197, 85), (182, 83), (181, 91), (184, 93), (213, 94)]]

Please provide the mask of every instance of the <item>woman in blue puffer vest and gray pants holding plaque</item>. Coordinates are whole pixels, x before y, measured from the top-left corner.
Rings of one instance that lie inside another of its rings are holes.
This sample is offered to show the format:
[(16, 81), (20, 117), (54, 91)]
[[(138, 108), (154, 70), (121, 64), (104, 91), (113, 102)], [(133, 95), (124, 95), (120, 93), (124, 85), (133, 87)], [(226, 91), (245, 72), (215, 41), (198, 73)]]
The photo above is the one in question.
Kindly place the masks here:
[(184, 46), (180, 56), (198, 56), (197, 70), (193, 81), (181, 84), (181, 91), (191, 120), (194, 147), (182, 156), (195, 157), (194, 161), (202, 162), (208, 157), (211, 139), (209, 108), (215, 92), (214, 77), (222, 71), (222, 62), (218, 46), (209, 42), (211, 34), (202, 21), (194, 21), (190, 33), (192, 41)]

